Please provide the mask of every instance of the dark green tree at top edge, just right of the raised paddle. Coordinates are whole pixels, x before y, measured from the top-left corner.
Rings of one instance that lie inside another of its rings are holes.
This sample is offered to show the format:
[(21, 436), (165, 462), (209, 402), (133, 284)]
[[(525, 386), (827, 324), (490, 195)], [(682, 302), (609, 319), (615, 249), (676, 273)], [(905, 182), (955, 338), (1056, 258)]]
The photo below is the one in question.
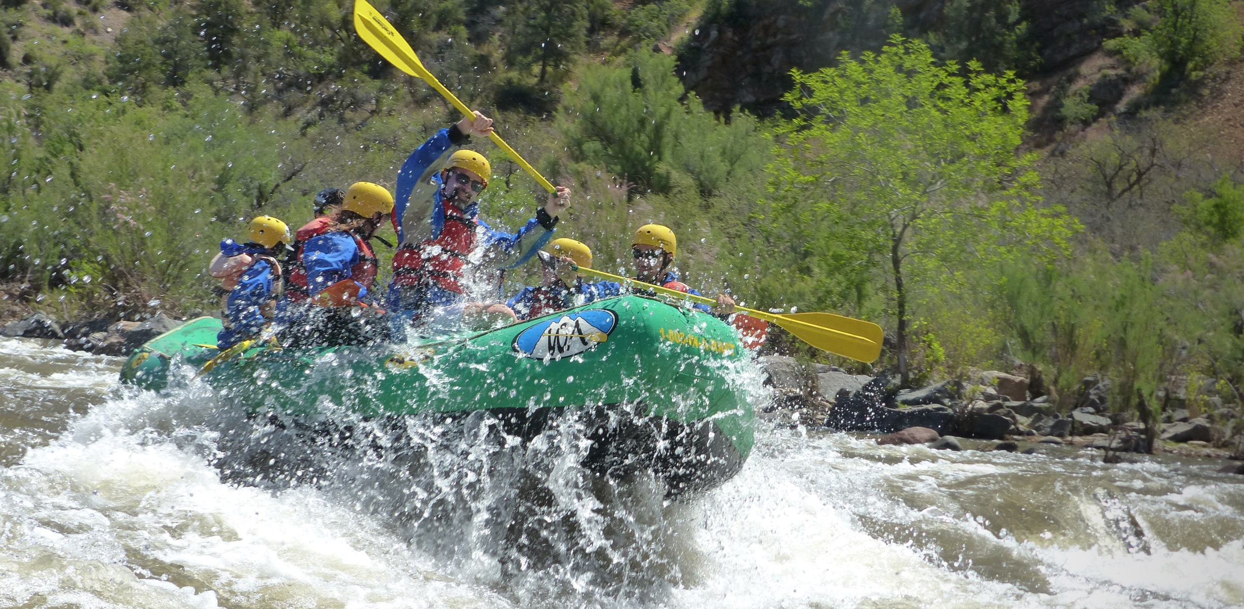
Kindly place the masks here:
[(564, 70), (583, 50), (587, 7), (578, 0), (526, 0), (506, 16), (505, 58), (520, 66), (540, 66), (536, 82), (544, 85), (549, 70)]

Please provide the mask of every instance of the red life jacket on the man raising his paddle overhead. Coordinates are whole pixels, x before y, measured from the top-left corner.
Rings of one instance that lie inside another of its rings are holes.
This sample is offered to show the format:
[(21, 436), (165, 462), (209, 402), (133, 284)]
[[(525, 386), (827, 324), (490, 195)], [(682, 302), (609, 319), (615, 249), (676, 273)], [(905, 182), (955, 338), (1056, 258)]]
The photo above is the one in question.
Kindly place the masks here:
[(442, 201), (445, 224), (437, 239), (418, 245), (403, 244), (393, 255), (393, 283), (418, 286), (434, 282), (450, 292), (463, 293), (463, 267), (475, 249), (475, 219), (454, 205)]

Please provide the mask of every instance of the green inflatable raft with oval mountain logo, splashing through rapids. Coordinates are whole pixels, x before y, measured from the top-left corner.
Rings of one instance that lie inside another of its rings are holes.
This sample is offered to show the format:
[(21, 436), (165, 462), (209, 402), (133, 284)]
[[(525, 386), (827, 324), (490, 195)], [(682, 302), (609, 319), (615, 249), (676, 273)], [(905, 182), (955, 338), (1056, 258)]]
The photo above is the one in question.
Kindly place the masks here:
[(587, 421), (585, 465), (646, 469), (668, 492), (712, 488), (753, 445), (750, 359), (725, 322), (620, 296), (448, 341), (374, 347), (215, 349), (200, 317), (136, 350), (123, 383), (160, 390), (184, 360), (253, 416), (323, 420), (485, 411), (530, 441), (556, 418)]

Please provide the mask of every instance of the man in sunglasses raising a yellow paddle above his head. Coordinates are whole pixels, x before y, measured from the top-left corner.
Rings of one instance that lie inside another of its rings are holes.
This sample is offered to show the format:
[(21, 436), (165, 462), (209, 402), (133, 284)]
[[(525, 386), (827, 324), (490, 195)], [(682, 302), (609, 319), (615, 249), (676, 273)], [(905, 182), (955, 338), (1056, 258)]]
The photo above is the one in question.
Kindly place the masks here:
[(488, 188), (491, 167), (474, 150), (450, 154), (450, 149), (491, 132), (493, 119), (475, 112), (428, 138), (398, 172), (393, 227), (401, 245), (387, 301), (398, 333), (429, 317), (462, 321), (483, 313), (513, 319), (504, 304), (473, 302), (469, 276), (531, 260), (570, 205), (570, 189), (559, 186), (516, 232), (493, 230), (481, 221), (475, 199)]

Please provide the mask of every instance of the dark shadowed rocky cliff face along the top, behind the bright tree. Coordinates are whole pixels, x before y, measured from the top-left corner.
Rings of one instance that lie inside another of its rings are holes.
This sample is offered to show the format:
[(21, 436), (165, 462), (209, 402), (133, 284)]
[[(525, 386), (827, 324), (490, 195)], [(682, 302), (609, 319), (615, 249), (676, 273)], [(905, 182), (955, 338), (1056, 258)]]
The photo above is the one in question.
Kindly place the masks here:
[[(741, 106), (769, 116), (782, 108), (791, 68), (817, 70), (842, 51), (878, 50), (896, 31), (938, 32), (947, 47), (983, 56), (990, 46), (972, 24), (947, 21), (989, 12), (1004, 21), (1000, 35), (1015, 36), (1026, 53), (1024, 76), (1036, 76), (1064, 70), (1120, 35), (1117, 15), (1131, 4), (1135, 0), (725, 0), (707, 11), (683, 42), (679, 73), (715, 112)], [(892, 15), (896, 7), (901, 20)], [(1015, 15), (1014, 24), (1004, 14)], [(964, 40), (947, 41), (948, 31), (965, 32)]]

